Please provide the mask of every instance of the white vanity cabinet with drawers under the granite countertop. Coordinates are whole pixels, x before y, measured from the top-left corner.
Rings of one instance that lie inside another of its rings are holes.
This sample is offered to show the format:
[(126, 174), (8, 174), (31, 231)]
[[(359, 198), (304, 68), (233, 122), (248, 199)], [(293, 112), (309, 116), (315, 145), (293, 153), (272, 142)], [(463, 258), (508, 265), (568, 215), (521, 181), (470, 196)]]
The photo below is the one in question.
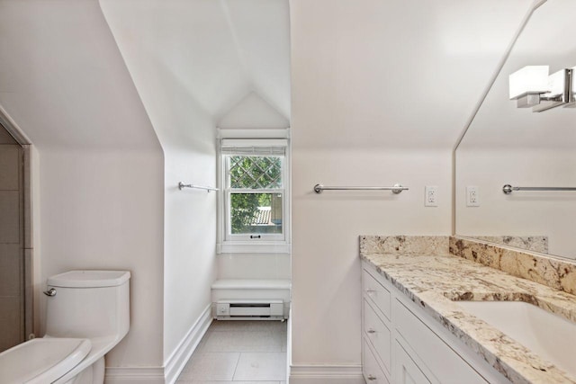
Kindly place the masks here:
[(369, 263), (362, 263), (366, 383), (509, 383)]

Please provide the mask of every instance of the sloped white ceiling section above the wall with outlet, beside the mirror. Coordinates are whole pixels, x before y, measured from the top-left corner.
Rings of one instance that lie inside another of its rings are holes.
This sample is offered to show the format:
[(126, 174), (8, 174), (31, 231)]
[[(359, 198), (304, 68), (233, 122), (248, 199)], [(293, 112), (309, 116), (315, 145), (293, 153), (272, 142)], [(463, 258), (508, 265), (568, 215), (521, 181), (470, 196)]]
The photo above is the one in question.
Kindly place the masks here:
[(532, 3), (291, 0), (294, 147), (452, 149)]

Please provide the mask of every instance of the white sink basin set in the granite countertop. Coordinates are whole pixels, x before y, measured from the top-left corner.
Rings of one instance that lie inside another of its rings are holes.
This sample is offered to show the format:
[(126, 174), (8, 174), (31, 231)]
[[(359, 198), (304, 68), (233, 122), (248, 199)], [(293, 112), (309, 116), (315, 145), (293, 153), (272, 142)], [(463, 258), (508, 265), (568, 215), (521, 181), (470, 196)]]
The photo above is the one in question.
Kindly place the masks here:
[(545, 360), (576, 376), (576, 323), (523, 301), (455, 301)]

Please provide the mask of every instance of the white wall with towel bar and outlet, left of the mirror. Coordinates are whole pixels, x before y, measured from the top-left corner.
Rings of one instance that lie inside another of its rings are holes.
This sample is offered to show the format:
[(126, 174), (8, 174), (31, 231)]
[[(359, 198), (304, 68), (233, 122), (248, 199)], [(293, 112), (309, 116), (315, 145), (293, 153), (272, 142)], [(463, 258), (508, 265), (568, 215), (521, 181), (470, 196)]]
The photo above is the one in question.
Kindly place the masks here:
[[(299, 139), (293, 148), (293, 365), (359, 364), (358, 235), (448, 235), (450, 152), (307, 150)], [(320, 182), (402, 183), (410, 191), (319, 195), (312, 187)], [(424, 207), (424, 185), (439, 187), (437, 208)]]

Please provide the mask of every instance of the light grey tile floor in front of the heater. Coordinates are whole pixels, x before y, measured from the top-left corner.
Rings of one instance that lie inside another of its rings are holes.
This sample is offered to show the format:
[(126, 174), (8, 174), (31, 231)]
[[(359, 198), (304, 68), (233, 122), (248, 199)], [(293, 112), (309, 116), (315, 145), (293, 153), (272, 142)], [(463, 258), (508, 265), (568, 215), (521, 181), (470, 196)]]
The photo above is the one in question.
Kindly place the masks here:
[(214, 320), (176, 384), (285, 384), (286, 322)]

